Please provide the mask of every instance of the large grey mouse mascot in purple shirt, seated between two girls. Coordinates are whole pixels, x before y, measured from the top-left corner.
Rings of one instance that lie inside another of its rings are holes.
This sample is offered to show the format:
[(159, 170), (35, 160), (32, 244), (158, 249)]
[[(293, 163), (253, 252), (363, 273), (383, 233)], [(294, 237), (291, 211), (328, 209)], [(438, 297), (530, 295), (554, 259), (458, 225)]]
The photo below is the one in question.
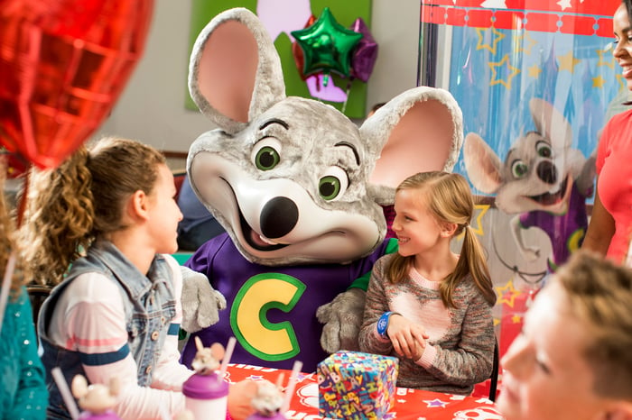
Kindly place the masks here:
[[(281, 369), (299, 360), (313, 371), (328, 352), (357, 349), (365, 292), (349, 287), (396, 250), (381, 205), (392, 205), (405, 177), (451, 170), (459, 105), (444, 90), (416, 87), (358, 129), (333, 106), (285, 96), (274, 44), (242, 8), (200, 33), (189, 87), (218, 129), (193, 142), (187, 171), (227, 233), (186, 265), (206, 274), (228, 310), (218, 324), (204, 321), (215, 300), (196, 276), (185, 282), (183, 327), (206, 346), (237, 337), (232, 362)], [(182, 361), (194, 355), (191, 339)]]

